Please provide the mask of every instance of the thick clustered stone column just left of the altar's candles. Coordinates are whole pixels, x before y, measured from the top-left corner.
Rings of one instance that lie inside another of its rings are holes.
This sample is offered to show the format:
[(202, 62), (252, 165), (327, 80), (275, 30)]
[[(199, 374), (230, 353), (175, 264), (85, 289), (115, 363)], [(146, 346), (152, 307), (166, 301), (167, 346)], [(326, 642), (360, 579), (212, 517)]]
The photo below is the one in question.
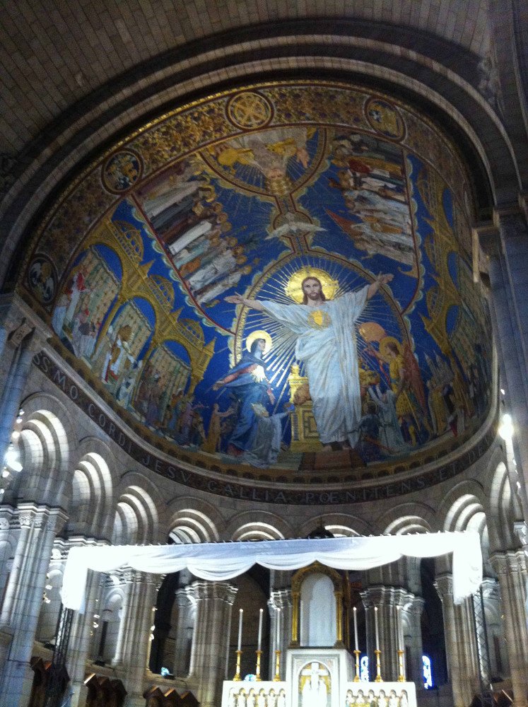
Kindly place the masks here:
[(196, 602), (196, 622), (189, 677), (198, 682), (201, 707), (217, 707), (221, 700), (225, 658), (229, 647), (231, 611), (237, 589), (227, 582), (197, 580), (190, 585)]

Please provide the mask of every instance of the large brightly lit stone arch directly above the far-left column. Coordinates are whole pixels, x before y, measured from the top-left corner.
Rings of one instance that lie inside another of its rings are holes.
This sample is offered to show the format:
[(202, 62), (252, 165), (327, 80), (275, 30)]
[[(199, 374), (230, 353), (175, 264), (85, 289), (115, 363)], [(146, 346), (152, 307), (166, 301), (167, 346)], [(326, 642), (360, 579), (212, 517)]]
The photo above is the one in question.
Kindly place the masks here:
[(18, 496), (66, 507), (70, 458), (76, 450), (68, 412), (57, 398), (46, 393), (28, 397), (21, 407), (24, 416), (18, 445), (23, 470), (15, 485)]

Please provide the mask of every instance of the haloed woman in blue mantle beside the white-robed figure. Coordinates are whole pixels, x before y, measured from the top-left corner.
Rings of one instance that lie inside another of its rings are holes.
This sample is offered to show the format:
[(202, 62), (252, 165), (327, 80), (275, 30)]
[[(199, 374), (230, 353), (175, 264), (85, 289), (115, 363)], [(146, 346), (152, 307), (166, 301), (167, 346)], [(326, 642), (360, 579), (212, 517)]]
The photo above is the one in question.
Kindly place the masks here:
[(274, 404), (275, 396), (266, 379), (264, 354), (271, 349), (271, 337), (267, 332), (252, 332), (246, 339), (247, 350), (239, 363), (230, 368), (227, 375), (217, 380), (213, 390), (225, 387), (237, 402), (238, 414), (235, 428), (228, 440), (228, 454), (240, 457), (251, 450), (257, 434), (258, 418), (254, 405), (266, 407)]

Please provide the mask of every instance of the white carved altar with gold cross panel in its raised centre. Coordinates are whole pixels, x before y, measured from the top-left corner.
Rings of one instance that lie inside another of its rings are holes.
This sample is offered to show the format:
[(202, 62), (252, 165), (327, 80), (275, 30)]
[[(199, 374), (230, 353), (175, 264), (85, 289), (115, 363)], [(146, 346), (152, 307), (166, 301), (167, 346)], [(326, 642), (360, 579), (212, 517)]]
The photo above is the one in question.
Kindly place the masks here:
[(354, 682), (342, 648), (288, 648), (286, 679), (225, 680), (222, 707), (416, 707), (413, 682)]

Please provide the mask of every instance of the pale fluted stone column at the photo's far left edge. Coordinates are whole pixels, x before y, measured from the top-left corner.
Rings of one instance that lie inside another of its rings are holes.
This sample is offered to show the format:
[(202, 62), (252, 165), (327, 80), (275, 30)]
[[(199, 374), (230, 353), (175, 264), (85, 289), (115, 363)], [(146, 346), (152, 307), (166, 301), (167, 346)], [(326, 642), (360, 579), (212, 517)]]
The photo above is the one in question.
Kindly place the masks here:
[(42, 607), (46, 572), (55, 534), (66, 522), (59, 508), (33, 504), (18, 507), (20, 534), (9, 576), (0, 625), (13, 631), (13, 640), (0, 677), (0, 704), (26, 705), (33, 683), (30, 658)]

